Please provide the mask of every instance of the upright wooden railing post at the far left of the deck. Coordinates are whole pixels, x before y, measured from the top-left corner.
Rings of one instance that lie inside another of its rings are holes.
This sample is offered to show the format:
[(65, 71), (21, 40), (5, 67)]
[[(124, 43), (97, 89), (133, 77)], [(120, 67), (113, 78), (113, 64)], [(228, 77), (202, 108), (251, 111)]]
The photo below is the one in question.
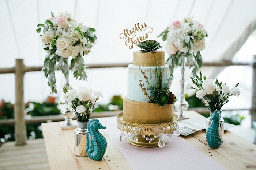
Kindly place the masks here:
[(15, 119), (15, 141), (16, 145), (25, 145), (27, 137), (26, 123), (24, 119), (24, 69), (23, 59), (16, 59), (15, 65), (15, 107), (14, 107), (14, 119)]

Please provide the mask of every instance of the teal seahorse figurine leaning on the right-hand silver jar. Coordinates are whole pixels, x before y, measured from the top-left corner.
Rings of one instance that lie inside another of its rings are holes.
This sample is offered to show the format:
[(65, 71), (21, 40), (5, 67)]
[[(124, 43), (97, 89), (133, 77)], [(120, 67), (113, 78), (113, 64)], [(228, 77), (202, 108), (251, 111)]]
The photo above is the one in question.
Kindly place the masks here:
[(218, 148), (221, 146), (221, 137), (219, 136), (220, 118), (221, 112), (219, 110), (214, 111), (210, 118), (212, 122), (206, 131), (206, 141), (211, 148)]

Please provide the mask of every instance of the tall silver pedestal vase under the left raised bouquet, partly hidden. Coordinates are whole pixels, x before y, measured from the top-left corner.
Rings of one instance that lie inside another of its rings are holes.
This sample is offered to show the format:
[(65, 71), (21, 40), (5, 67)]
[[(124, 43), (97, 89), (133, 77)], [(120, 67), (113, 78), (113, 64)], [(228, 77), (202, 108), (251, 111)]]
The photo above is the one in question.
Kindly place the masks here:
[[(69, 74), (65, 76), (65, 83), (64, 86), (68, 89), (69, 88)], [(62, 129), (72, 129), (76, 127), (76, 123), (72, 122), (72, 118), (75, 116), (75, 112), (68, 108), (68, 102), (65, 100), (65, 105), (60, 111), (60, 115), (65, 119), (65, 122), (61, 122)]]

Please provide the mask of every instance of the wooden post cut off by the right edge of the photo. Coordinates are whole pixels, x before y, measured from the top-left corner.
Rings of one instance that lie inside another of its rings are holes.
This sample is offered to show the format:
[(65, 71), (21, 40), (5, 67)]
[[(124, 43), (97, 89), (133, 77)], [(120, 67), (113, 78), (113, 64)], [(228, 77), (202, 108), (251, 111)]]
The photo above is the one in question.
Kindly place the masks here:
[[(252, 122), (256, 121), (256, 55), (252, 63)], [(253, 126), (252, 126), (253, 127)]]

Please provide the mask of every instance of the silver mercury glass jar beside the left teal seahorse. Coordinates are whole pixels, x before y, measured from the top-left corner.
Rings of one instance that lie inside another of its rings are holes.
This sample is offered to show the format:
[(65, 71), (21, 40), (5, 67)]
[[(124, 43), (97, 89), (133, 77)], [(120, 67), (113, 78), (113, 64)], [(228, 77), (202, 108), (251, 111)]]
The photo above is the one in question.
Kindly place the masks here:
[(78, 157), (88, 157), (86, 153), (86, 142), (87, 142), (87, 133), (89, 131), (87, 129), (87, 122), (77, 121), (77, 128), (74, 130), (75, 137), (75, 145), (74, 145), (74, 153)]

